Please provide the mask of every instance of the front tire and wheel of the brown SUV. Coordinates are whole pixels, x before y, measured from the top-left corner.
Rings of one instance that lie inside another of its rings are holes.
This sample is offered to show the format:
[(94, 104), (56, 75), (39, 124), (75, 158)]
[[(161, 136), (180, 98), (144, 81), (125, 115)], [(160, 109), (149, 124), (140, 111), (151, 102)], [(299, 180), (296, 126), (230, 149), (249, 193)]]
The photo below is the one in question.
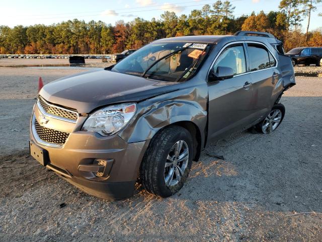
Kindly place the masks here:
[[(180, 159), (173, 157), (176, 157), (176, 148), (181, 142), (182, 149), (179, 152), (183, 157), (188, 150), (188, 158), (179, 162)], [(139, 177), (143, 188), (162, 198), (177, 193), (189, 175), (192, 157), (193, 139), (189, 131), (179, 126), (170, 126), (159, 131), (152, 138), (141, 163)]]

